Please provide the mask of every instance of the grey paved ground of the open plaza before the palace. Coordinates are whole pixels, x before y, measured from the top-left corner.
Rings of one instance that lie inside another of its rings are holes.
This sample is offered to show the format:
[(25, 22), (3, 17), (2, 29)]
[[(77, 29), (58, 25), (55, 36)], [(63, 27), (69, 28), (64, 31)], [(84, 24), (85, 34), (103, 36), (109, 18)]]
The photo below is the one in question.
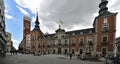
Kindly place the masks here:
[(0, 58), (0, 64), (104, 64), (104, 62), (80, 60), (76, 57), (70, 60), (64, 55), (7, 54), (5, 58)]

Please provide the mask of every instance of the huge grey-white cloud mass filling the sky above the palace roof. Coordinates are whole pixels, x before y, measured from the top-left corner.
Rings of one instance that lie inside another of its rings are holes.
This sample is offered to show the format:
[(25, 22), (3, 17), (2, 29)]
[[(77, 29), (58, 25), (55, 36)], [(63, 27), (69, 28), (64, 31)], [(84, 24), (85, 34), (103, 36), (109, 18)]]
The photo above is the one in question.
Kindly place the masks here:
[[(61, 18), (64, 20), (62, 27), (69, 31), (92, 27), (94, 18), (98, 15), (101, 0), (82, 2), (81, 0), (15, 0), (15, 2), (21, 7), (28, 8), (32, 13), (36, 13), (36, 8), (39, 8), (41, 30), (54, 32), (58, 29), (58, 19)], [(119, 2), (119, 0), (109, 0), (108, 10), (119, 10), (117, 6)], [(32, 22), (35, 22), (35, 17), (32, 17)], [(119, 31), (118, 28), (117, 30)]]

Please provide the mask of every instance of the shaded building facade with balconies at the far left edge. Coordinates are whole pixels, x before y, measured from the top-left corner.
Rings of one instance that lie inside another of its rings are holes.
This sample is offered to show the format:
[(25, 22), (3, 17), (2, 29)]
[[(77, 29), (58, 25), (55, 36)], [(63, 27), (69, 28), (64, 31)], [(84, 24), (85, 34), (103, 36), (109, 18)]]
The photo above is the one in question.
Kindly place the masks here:
[(5, 51), (7, 42), (5, 37), (5, 5), (4, 0), (0, 0), (0, 51)]

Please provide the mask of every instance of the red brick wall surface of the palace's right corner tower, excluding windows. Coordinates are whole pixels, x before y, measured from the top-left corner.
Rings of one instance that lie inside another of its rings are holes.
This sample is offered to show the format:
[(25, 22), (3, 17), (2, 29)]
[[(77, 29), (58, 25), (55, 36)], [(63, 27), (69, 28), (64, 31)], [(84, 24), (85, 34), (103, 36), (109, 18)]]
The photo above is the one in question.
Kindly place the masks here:
[[(108, 23), (109, 23), (109, 31), (108, 32), (102, 32), (102, 24), (104, 21), (104, 17), (97, 18), (97, 51), (102, 51), (102, 47), (107, 47), (108, 51), (113, 51), (113, 43), (115, 39), (115, 16), (107, 16)], [(102, 44), (102, 37), (103, 36), (108, 36), (108, 44)]]

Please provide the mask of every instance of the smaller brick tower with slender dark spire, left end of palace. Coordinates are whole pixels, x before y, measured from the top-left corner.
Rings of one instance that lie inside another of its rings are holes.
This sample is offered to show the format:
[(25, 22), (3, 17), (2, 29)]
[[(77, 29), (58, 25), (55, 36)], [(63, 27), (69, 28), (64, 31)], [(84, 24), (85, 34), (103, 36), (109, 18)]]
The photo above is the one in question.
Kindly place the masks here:
[(43, 36), (43, 32), (41, 31), (40, 27), (39, 27), (39, 17), (38, 17), (38, 13), (36, 15), (36, 21), (35, 21), (35, 27), (34, 29), (31, 31), (31, 50), (33, 52), (35, 51), (39, 51), (38, 49), (38, 45), (40, 43), (39, 38)]

